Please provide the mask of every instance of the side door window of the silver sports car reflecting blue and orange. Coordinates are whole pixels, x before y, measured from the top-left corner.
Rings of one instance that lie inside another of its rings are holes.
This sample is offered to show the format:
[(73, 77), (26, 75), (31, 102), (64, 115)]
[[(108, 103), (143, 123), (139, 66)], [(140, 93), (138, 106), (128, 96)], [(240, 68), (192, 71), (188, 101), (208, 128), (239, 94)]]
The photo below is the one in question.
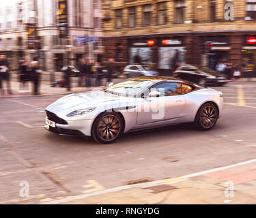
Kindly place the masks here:
[(153, 90), (158, 91), (165, 96), (181, 95), (182, 84), (179, 82), (163, 82), (153, 87), (151, 91)]

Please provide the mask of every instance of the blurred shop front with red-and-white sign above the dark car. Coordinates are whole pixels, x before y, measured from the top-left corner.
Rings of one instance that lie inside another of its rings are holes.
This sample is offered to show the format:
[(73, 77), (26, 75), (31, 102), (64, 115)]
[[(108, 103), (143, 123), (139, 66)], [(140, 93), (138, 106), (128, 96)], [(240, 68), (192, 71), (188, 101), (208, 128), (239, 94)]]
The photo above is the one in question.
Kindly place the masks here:
[(165, 37), (158, 39), (158, 71), (171, 76), (176, 67), (185, 65), (186, 48), (184, 38)]

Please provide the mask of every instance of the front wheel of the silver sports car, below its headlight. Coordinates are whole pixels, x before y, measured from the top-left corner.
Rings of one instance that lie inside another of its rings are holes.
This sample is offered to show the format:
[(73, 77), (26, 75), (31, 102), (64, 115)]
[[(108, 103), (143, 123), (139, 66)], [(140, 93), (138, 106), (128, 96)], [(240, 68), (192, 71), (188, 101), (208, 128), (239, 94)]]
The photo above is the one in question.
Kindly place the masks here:
[(123, 121), (115, 112), (104, 112), (94, 121), (92, 136), (97, 142), (109, 144), (122, 134)]

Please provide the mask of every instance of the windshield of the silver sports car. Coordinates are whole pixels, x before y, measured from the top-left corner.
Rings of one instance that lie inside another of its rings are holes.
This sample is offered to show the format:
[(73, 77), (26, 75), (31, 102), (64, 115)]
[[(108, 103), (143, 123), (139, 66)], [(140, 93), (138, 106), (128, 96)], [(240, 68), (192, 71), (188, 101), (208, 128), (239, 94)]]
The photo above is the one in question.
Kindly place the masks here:
[(115, 95), (134, 97), (152, 84), (154, 84), (154, 82), (151, 80), (127, 80), (125, 82), (114, 84), (112, 87), (107, 88), (106, 92)]

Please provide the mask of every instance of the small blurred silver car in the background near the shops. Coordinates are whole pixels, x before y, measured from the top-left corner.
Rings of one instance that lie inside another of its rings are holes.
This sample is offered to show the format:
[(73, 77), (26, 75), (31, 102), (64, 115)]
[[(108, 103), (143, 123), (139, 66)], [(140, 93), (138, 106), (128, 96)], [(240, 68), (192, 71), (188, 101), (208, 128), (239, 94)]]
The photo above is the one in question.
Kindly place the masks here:
[(132, 76), (158, 76), (158, 72), (147, 67), (147, 65), (128, 65), (124, 68), (124, 75), (127, 78)]

